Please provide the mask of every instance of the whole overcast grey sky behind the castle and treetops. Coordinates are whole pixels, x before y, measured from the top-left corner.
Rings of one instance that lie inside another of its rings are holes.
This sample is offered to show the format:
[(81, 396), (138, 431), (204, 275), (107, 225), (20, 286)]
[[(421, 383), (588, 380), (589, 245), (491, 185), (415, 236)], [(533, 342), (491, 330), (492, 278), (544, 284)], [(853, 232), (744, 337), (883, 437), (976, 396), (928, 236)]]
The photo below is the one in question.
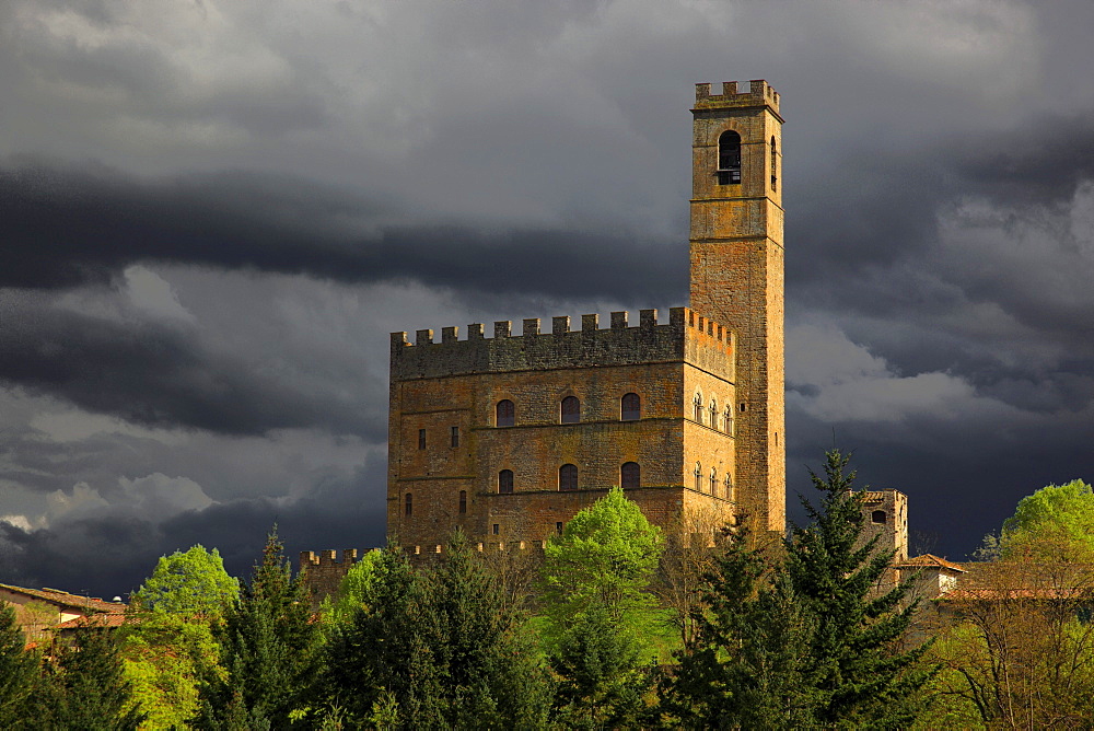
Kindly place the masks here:
[(1094, 479), (1092, 32), (1087, 0), (5, 0), (0, 582), (125, 594), (195, 543), (245, 573), (275, 521), (380, 545), (387, 334), (685, 304), (694, 84), (760, 78), (790, 501), (835, 443), (963, 558)]

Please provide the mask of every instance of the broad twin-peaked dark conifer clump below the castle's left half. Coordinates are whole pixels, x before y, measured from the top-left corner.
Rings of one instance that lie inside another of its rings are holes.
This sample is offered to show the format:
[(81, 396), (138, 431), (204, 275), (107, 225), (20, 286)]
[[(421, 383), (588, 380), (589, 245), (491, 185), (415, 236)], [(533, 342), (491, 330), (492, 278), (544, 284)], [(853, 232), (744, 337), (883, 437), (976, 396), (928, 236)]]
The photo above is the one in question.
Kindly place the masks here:
[(422, 573), (388, 547), (370, 593), (328, 643), (331, 700), (349, 718), (406, 729), (543, 726), (543, 669), (462, 533)]

